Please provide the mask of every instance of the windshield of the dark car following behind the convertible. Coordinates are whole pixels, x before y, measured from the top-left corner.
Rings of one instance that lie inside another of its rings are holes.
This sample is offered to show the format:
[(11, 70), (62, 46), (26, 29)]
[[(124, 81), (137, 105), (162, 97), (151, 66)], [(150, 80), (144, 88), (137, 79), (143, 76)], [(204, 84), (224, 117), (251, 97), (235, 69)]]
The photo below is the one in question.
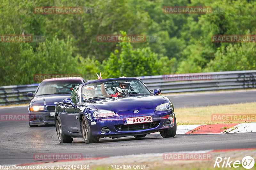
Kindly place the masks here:
[(53, 94), (71, 94), (73, 87), (79, 86), (81, 81), (43, 81), (35, 96)]

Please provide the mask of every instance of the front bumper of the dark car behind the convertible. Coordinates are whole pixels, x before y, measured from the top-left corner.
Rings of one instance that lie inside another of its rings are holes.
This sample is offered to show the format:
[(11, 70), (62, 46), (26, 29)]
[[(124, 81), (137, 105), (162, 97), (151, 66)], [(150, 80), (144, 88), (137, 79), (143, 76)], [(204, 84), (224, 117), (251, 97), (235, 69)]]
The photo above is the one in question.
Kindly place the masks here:
[(46, 111), (28, 112), (28, 114), (29, 114), (29, 124), (31, 125), (54, 124), (54, 116), (51, 116), (51, 112), (46, 112)]

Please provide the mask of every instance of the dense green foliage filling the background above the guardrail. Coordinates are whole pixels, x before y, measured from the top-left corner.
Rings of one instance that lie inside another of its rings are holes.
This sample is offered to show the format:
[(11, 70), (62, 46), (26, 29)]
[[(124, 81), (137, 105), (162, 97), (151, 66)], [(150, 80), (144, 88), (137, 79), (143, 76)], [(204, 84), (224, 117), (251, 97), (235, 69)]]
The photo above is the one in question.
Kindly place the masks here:
[[(0, 35), (40, 34), (42, 42), (0, 41), (0, 86), (36, 83), (34, 74), (85, 79), (256, 69), (255, 43), (214, 43), (212, 35), (256, 35), (250, 0), (2, 0)], [(36, 6), (82, 6), (82, 14), (35, 14)], [(164, 6), (211, 6), (210, 14), (167, 14)], [(145, 42), (98, 42), (142, 34)], [(155, 38), (149, 41), (148, 38)]]

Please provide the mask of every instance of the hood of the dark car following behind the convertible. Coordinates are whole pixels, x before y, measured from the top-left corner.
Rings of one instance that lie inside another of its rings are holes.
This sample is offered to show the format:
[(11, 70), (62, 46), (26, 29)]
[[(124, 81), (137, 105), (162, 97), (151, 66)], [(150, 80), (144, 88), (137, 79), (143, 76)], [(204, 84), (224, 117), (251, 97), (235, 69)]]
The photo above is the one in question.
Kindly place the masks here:
[(31, 105), (56, 105), (54, 102), (62, 102), (63, 99), (70, 97), (70, 95), (65, 94), (65, 95), (47, 95), (47, 96), (35, 96), (31, 100)]

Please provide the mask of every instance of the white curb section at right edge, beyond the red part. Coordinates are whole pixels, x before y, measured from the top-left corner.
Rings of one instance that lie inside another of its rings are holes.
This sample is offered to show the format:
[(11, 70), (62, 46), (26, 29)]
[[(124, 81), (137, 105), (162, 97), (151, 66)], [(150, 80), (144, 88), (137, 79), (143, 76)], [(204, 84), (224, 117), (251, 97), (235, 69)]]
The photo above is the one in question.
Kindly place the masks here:
[(246, 132), (256, 132), (256, 123), (242, 123), (227, 129), (222, 133), (246, 133)]

